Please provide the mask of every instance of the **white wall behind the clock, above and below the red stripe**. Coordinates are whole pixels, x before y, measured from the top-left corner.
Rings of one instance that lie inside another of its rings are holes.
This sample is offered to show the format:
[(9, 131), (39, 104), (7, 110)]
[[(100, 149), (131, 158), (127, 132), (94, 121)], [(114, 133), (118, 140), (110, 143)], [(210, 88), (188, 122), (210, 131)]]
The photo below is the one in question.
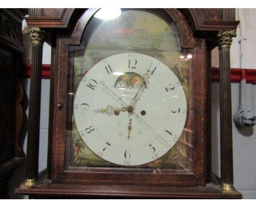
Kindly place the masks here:
[[(256, 70), (256, 9), (243, 9), (246, 22), (246, 69)], [(238, 17), (237, 17), (238, 18)], [(30, 38), (26, 35), (26, 22), (24, 21), (24, 63), (30, 63), (31, 44)], [(231, 46), (231, 68), (240, 68), (240, 26), (237, 29), (237, 37), (234, 38)], [(51, 47), (44, 44), (43, 64), (51, 63)], [(212, 51), (212, 67), (219, 67), (218, 48)], [(26, 97), (23, 107), (28, 113), (28, 95), (30, 91), (30, 79), (22, 78)], [(246, 102), (248, 108), (256, 113), (256, 84), (246, 84)], [(231, 84), (232, 90), (232, 114), (239, 105), (239, 83)], [(49, 94), (50, 80), (42, 79), (41, 119), (40, 119), (40, 149), (39, 149), (39, 171), (46, 168), (47, 145), (48, 145), (48, 116), (49, 116)], [(213, 172), (220, 176), (220, 150), (219, 150), (219, 84), (212, 83), (212, 166)], [(26, 123), (25, 123), (26, 124)], [(26, 126), (26, 125), (25, 125)], [(233, 151), (234, 151), (234, 186), (243, 194), (245, 199), (256, 199), (256, 127), (239, 128), (232, 123)], [(24, 152), (26, 153), (26, 135), (24, 136)], [(9, 185), (9, 198), (24, 198), (14, 194), (14, 189), (25, 180), (25, 165), (16, 170)], [(26, 197), (25, 197), (26, 198)]]

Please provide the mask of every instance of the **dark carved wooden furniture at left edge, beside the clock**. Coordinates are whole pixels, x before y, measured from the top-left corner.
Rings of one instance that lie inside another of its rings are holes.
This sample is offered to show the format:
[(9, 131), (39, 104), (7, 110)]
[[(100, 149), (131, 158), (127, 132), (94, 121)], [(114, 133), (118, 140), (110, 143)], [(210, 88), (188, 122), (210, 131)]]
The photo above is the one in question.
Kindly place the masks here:
[(19, 81), (22, 64), (21, 25), (25, 9), (0, 10), (0, 198), (7, 198), (11, 173), (22, 162), (20, 132), (23, 124)]

